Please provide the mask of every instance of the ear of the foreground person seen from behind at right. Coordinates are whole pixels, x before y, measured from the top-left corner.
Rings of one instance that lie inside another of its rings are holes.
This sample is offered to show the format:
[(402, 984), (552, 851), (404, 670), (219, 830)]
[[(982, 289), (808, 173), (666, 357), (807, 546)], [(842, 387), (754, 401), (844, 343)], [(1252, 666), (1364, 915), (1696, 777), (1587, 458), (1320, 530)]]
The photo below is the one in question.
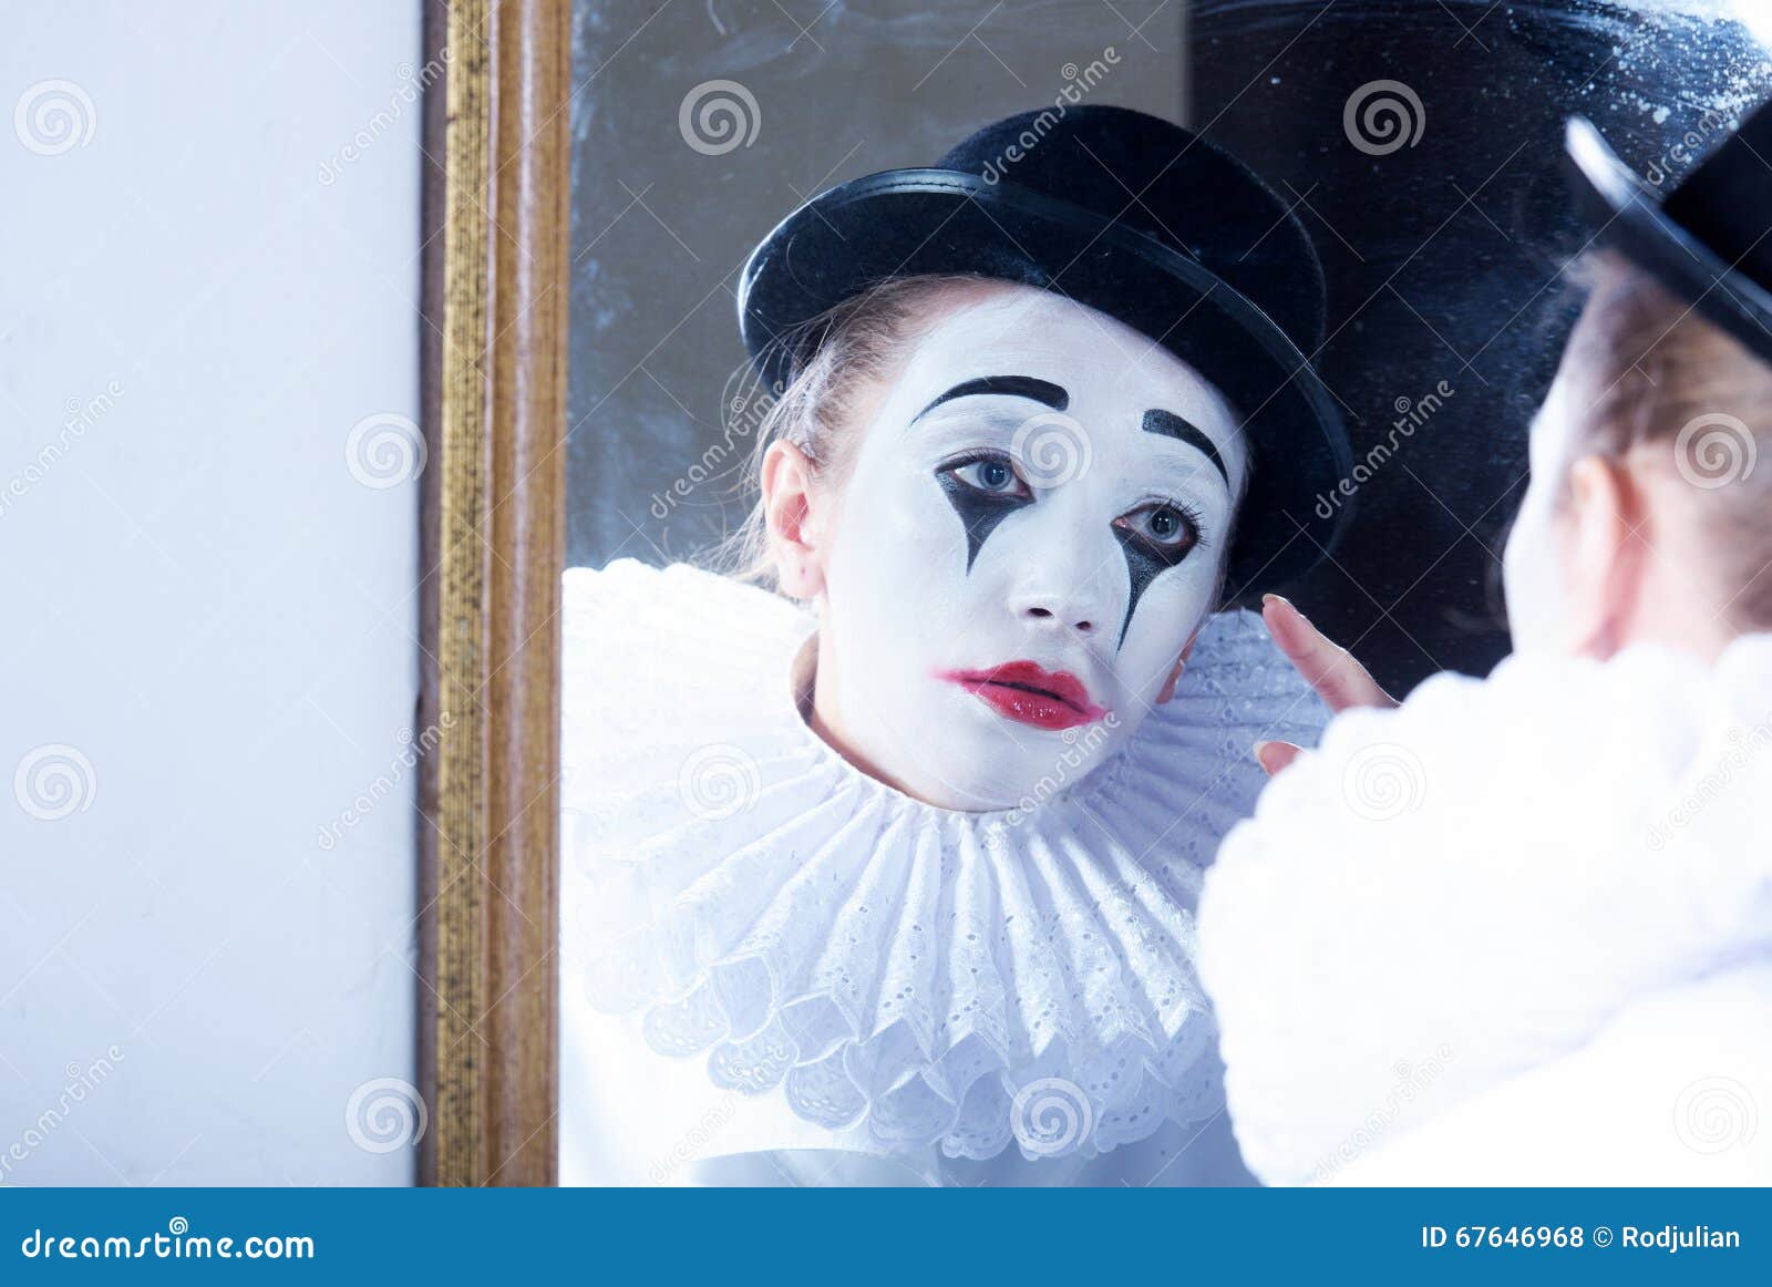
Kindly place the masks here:
[(1648, 518), (1623, 461), (1582, 456), (1570, 464), (1561, 555), (1577, 654), (1604, 661), (1630, 635), (1650, 567)]

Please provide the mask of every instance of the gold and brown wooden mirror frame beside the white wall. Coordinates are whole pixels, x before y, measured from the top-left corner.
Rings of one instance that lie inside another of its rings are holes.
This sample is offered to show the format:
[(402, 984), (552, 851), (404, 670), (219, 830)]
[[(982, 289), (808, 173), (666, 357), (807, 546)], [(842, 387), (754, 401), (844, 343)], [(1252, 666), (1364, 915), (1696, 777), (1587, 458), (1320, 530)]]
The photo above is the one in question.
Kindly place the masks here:
[(569, 0), (429, 0), (425, 1184), (556, 1182)]

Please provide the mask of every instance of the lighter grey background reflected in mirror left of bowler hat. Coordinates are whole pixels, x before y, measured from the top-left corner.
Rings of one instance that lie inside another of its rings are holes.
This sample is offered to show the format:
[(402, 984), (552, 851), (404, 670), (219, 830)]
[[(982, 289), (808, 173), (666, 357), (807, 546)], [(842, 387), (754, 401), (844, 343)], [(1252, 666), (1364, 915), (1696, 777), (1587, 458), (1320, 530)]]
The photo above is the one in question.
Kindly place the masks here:
[(1182, 0), (579, 0), (569, 562), (693, 557), (742, 518), (760, 408), (732, 404), (734, 292), (769, 229), (1092, 64), (1084, 101), (1180, 117), (1184, 20)]

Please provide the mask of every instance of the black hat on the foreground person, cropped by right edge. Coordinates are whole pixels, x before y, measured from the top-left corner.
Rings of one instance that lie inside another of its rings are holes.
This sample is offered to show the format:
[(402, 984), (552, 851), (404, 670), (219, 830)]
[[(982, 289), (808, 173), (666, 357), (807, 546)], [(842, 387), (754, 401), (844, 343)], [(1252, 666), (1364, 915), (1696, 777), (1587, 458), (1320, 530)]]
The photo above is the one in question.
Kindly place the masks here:
[(1597, 239), (1772, 362), (1772, 103), (1664, 200), (1582, 117), (1568, 122), (1565, 138), (1575, 197)]

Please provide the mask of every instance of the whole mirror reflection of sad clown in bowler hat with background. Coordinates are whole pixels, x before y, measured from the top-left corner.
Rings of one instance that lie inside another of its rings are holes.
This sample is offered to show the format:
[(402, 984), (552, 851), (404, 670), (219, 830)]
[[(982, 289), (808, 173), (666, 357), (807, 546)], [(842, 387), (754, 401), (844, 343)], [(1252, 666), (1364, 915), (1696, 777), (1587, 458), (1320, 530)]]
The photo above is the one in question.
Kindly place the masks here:
[(1714, 11), (579, 5), (563, 1182), (1255, 1179), (1194, 911), (1356, 693), (1263, 596), (1508, 649), (1563, 122), (1690, 163)]

